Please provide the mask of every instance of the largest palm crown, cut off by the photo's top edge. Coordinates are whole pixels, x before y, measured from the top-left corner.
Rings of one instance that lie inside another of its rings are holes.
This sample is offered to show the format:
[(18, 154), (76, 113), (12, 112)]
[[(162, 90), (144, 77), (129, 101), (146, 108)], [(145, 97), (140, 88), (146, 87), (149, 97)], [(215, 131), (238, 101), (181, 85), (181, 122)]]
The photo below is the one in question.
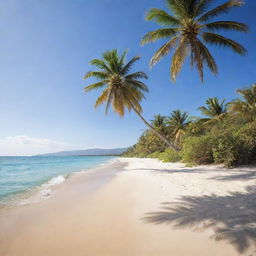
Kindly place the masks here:
[(217, 74), (217, 64), (204, 43), (227, 47), (240, 55), (246, 53), (241, 44), (214, 33), (220, 30), (247, 32), (246, 24), (236, 21), (210, 21), (211, 18), (227, 13), (234, 7), (242, 6), (242, 0), (229, 0), (208, 11), (213, 0), (167, 0), (166, 2), (173, 16), (161, 9), (150, 9), (146, 20), (154, 20), (163, 28), (147, 33), (141, 44), (167, 39), (167, 42), (152, 57), (151, 66), (175, 48), (170, 68), (173, 81), (176, 81), (176, 76), (188, 55), (190, 55), (191, 66), (196, 66), (202, 81), (205, 64), (213, 74)]

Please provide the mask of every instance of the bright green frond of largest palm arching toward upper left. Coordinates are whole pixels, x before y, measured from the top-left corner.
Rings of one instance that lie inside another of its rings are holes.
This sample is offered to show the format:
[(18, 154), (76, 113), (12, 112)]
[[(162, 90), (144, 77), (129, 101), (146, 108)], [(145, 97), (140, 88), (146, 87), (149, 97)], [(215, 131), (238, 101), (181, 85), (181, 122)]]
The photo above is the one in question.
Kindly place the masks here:
[(160, 25), (179, 25), (180, 21), (175, 17), (169, 15), (167, 12), (161, 9), (152, 8), (148, 11), (145, 17), (146, 20), (155, 20)]

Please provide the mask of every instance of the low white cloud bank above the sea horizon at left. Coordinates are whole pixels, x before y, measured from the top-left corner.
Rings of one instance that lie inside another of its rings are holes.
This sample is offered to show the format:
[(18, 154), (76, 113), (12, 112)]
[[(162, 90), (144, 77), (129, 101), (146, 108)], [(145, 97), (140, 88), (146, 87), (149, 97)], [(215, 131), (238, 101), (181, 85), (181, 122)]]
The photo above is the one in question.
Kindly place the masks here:
[(67, 150), (67, 144), (43, 138), (31, 138), (26, 135), (9, 136), (0, 139), (0, 155), (27, 156)]

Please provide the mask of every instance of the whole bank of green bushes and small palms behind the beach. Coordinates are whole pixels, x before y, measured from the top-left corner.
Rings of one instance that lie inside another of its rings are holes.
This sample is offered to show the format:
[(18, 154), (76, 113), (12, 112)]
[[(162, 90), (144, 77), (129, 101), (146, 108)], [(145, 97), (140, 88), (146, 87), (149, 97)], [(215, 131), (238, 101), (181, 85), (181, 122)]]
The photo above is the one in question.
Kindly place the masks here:
[[(145, 131), (138, 143), (125, 152), (125, 156), (158, 158), (164, 162), (182, 160), (188, 164), (224, 164), (232, 167), (256, 161), (256, 120), (255, 84), (238, 90), (243, 99), (225, 103), (218, 98), (209, 98), (205, 107), (200, 107), (203, 115), (191, 120), (187, 112), (175, 110), (169, 117), (162, 117), (166, 136), (175, 141), (179, 152), (165, 145), (156, 147), (155, 137)], [(238, 108), (238, 106), (243, 106)], [(158, 116), (158, 115), (156, 115)], [(217, 121), (212, 121), (217, 120)], [(210, 121), (210, 122), (209, 122)], [(177, 142), (177, 134), (182, 134)], [(148, 143), (155, 147), (148, 146)]]

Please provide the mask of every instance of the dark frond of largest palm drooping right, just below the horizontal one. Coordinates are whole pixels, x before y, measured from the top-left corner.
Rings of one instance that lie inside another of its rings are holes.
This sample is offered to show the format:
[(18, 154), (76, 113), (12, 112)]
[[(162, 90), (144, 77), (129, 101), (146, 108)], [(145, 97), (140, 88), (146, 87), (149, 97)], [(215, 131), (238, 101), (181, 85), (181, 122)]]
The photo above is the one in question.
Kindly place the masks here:
[(206, 43), (231, 48), (234, 52), (240, 55), (244, 55), (246, 53), (246, 49), (241, 44), (219, 34), (204, 32), (202, 37)]

